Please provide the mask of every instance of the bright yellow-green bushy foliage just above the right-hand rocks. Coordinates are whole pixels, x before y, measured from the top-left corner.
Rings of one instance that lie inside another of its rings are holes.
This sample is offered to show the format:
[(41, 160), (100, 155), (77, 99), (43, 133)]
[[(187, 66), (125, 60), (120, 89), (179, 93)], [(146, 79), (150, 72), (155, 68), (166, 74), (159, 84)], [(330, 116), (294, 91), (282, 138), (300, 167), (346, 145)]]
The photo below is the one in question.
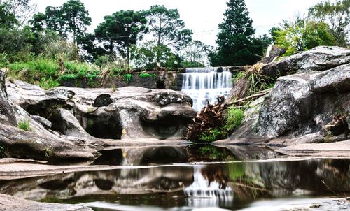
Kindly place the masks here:
[(304, 51), (318, 45), (335, 45), (328, 24), (303, 20), (297, 17), (294, 22), (284, 21), (281, 30), (276, 31), (276, 45), (286, 49), (285, 56)]

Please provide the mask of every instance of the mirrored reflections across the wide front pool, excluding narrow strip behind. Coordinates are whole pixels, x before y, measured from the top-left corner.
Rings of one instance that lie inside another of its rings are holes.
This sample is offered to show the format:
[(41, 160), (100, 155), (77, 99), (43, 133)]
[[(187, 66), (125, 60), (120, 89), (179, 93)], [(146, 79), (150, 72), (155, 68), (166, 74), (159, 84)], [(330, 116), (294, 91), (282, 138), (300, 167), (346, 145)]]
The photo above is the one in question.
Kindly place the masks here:
[(94, 207), (113, 209), (237, 209), (260, 198), (349, 194), (349, 165), (348, 159), (314, 159), (129, 167), (1, 181), (0, 192), (36, 201), (94, 202)]

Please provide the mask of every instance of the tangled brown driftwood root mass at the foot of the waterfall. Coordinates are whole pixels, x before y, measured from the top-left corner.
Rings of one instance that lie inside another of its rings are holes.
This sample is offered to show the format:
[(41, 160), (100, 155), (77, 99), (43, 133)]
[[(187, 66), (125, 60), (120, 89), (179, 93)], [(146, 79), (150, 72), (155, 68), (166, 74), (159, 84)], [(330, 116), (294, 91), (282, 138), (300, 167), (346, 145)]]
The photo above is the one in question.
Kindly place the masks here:
[(214, 105), (207, 102), (207, 106), (193, 119), (193, 123), (188, 125), (186, 140), (198, 140), (202, 133), (223, 125), (223, 111), (226, 108), (225, 98), (220, 96), (217, 99), (218, 101)]

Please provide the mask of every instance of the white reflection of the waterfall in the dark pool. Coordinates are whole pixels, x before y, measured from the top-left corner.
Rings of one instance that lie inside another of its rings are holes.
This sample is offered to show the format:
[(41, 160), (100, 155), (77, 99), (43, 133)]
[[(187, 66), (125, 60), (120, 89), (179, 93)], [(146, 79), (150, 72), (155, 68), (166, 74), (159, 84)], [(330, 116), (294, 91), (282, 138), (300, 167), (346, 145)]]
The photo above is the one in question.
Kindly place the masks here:
[(195, 208), (230, 206), (233, 203), (233, 191), (230, 187), (220, 188), (216, 181), (209, 181), (201, 173), (203, 166), (195, 166), (193, 184), (184, 189), (188, 197), (188, 206)]

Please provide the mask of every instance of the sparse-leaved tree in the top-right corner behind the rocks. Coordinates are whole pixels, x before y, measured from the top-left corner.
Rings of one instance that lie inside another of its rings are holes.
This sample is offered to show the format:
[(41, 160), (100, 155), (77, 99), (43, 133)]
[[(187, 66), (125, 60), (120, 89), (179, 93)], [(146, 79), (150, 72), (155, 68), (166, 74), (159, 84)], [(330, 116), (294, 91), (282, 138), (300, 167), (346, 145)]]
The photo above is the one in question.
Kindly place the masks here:
[(309, 17), (317, 22), (329, 24), (330, 30), (335, 36), (336, 45), (346, 46), (346, 38), (349, 34), (350, 24), (350, 0), (340, 0), (335, 3), (321, 1), (309, 8)]

